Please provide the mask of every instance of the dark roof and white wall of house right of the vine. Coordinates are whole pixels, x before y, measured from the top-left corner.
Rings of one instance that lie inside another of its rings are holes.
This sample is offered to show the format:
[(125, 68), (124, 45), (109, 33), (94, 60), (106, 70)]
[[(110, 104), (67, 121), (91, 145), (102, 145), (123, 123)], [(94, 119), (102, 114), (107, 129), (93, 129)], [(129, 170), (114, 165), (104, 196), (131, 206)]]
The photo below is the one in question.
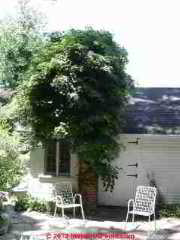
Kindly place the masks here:
[(126, 119), (119, 178), (112, 193), (99, 184), (99, 204), (127, 206), (137, 185), (151, 183), (166, 203), (180, 202), (180, 89), (137, 89)]

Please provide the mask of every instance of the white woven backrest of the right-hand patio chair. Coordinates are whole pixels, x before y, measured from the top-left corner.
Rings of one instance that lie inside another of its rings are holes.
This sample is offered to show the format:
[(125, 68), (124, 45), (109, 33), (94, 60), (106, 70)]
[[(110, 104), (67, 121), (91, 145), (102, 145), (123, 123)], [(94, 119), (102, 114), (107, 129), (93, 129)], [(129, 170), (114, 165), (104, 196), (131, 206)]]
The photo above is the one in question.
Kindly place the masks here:
[(153, 213), (157, 190), (155, 187), (138, 186), (136, 189), (134, 210)]

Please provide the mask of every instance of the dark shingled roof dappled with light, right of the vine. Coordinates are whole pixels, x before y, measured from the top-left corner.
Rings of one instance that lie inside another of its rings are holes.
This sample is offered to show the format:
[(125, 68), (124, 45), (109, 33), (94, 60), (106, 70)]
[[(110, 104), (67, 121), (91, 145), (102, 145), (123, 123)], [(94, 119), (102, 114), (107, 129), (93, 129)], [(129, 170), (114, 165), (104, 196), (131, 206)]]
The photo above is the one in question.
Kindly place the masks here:
[(136, 88), (124, 132), (180, 134), (180, 88)]

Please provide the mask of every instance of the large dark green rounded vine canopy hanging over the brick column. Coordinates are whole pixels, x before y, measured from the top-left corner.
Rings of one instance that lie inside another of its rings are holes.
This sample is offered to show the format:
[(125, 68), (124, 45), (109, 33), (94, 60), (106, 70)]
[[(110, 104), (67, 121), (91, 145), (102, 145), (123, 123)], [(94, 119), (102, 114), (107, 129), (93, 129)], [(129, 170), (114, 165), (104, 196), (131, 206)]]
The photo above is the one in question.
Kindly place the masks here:
[(112, 188), (118, 169), (116, 136), (133, 82), (127, 52), (106, 31), (52, 34), (18, 94), (19, 116), (41, 142), (67, 138), (80, 160)]

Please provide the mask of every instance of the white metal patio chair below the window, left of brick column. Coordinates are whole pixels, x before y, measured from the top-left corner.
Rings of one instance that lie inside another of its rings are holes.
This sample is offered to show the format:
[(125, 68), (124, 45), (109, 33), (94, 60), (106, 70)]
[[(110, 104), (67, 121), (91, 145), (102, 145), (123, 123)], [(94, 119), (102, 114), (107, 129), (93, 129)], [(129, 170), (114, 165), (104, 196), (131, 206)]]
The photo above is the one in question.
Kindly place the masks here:
[(81, 208), (82, 218), (85, 219), (81, 194), (73, 194), (71, 183), (62, 182), (57, 184), (54, 216), (56, 216), (57, 208), (61, 208), (62, 217), (65, 217), (65, 208), (73, 208), (73, 217), (75, 217), (75, 208), (77, 207)]

